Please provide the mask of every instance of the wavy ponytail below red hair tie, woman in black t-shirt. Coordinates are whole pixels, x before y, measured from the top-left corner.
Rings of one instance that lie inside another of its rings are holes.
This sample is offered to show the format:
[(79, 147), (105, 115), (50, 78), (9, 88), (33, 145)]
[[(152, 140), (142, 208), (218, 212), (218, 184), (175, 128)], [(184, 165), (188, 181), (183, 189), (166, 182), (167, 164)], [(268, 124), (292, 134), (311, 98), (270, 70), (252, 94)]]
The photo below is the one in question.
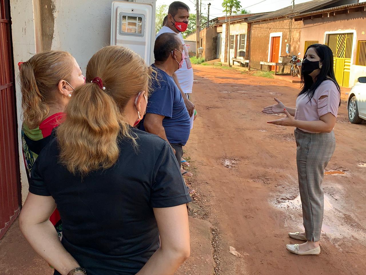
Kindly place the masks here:
[(87, 173), (115, 163), (120, 114), (111, 96), (97, 84), (87, 83), (75, 91), (66, 113), (67, 119), (57, 129), (64, 149), (60, 153), (62, 164), (72, 173)]

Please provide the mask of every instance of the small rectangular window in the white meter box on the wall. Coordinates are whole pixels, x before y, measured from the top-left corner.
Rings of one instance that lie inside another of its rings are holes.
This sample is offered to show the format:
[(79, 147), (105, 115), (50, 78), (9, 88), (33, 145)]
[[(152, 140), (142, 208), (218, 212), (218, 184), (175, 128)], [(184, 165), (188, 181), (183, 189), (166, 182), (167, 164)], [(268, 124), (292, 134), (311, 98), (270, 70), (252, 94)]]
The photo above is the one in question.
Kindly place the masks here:
[(120, 13), (119, 22), (120, 34), (143, 36), (145, 16), (142, 14), (123, 14)]

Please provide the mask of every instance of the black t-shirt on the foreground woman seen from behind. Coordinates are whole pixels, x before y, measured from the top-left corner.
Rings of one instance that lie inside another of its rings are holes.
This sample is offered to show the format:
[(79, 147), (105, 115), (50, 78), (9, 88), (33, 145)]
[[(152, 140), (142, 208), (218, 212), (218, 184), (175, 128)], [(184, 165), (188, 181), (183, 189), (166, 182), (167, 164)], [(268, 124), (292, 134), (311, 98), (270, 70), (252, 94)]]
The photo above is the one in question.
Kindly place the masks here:
[(109, 169), (73, 175), (59, 164), (57, 138), (33, 166), (29, 191), (55, 199), (62, 243), (88, 275), (136, 274), (159, 247), (153, 208), (191, 201), (169, 144), (132, 131), (138, 147), (122, 139)]

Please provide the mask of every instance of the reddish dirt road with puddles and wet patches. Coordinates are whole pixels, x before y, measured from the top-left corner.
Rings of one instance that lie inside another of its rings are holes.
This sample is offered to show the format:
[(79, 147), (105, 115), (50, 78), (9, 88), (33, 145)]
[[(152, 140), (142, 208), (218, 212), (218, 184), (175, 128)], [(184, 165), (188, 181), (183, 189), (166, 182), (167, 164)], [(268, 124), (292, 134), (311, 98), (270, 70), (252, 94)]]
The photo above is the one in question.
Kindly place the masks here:
[[(194, 71), (199, 117), (186, 151), (196, 200), (221, 232), (221, 274), (365, 274), (366, 124), (350, 124), (342, 103), (327, 167), (342, 173), (324, 178), (322, 252), (290, 254), (285, 245), (296, 242), (287, 232), (303, 228), (294, 128), (266, 124), (275, 115), (261, 110), (274, 96), (294, 107), (299, 84), (213, 66)], [(229, 246), (249, 256), (236, 258)]]

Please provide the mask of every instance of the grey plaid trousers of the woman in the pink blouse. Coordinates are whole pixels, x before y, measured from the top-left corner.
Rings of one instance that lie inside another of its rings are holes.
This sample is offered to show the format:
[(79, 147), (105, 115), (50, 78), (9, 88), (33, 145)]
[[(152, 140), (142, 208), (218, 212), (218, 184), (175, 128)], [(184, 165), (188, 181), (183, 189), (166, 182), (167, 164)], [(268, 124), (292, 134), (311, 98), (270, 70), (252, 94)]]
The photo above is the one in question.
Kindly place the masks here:
[(324, 214), (324, 192), (322, 182), (324, 169), (334, 153), (334, 132), (306, 133), (295, 129), (296, 164), (298, 168), (302, 216), (306, 239), (320, 239)]

